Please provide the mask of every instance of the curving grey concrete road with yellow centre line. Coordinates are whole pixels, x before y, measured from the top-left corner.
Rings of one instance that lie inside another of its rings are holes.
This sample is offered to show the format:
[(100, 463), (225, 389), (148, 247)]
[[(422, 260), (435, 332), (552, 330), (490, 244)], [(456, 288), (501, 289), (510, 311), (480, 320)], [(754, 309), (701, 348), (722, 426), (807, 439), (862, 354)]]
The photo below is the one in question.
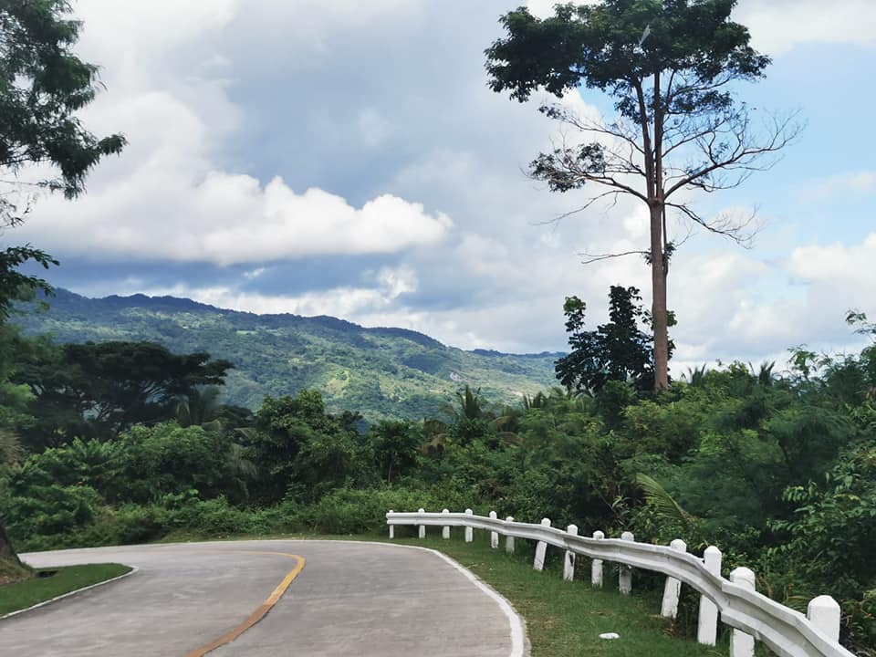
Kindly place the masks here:
[[(304, 568), (295, 579), (299, 560)], [(239, 541), (25, 556), (37, 567), (117, 562), (128, 578), (0, 620), (0, 655), (519, 657), (505, 600), (440, 555), (386, 544)], [(288, 588), (266, 615), (278, 585)], [(256, 614), (257, 615), (257, 614)]]

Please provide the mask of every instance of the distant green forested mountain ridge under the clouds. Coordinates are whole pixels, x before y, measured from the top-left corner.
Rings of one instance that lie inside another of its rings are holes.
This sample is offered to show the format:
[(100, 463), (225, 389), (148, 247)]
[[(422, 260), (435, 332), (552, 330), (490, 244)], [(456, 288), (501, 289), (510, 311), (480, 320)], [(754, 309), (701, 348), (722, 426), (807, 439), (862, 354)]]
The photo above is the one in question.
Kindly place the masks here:
[(363, 328), (332, 317), (255, 315), (177, 297), (80, 297), (58, 289), (47, 311), (15, 318), (58, 342), (151, 340), (235, 363), (225, 401), (257, 408), (266, 394), (322, 391), (328, 410), (367, 420), (421, 419), (465, 383), (487, 401), (516, 403), (555, 385), (560, 353), (464, 351), (406, 328)]

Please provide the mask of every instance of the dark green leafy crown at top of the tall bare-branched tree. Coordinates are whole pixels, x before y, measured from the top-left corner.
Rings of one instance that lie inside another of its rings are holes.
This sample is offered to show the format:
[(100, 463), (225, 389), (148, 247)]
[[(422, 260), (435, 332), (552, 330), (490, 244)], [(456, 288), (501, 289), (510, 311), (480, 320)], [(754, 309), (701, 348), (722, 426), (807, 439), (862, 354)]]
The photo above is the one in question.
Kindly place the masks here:
[[(600, 5), (557, 5), (540, 20), (525, 7), (501, 22), (508, 37), (486, 51), (494, 91), (526, 100), (538, 88), (560, 97), (584, 84), (617, 99), (620, 114), (638, 120), (630, 78), (675, 72), (687, 90), (667, 99), (680, 113), (725, 110), (729, 91), (712, 89), (722, 78), (761, 76), (769, 58), (748, 46), (746, 27), (730, 22), (735, 2), (606, 0)], [(645, 56), (634, 46), (649, 27)]]

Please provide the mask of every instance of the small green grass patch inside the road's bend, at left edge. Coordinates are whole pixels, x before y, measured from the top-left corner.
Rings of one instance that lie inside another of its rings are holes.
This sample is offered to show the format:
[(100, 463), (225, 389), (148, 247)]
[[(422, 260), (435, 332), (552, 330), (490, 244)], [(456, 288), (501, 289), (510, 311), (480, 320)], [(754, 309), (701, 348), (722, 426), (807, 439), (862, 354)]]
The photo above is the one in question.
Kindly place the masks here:
[[(36, 577), (0, 586), (0, 616), (130, 571), (121, 564), (87, 564), (36, 571)], [(52, 574), (54, 572), (54, 574)]]

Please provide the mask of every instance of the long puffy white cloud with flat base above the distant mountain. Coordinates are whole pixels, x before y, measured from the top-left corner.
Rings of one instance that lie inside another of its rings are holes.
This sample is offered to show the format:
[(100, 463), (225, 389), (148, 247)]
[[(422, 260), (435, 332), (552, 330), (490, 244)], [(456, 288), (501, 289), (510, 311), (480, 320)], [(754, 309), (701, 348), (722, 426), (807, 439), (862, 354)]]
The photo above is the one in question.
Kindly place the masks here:
[(280, 178), (263, 187), (249, 175), (207, 172), (196, 182), (191, 172), (174, 174), (172, 158), (156, 156), (76, 203), (47, 199), (17, 235), (52, 253), (95, 260), (231, 265), (393, 253), (434, 245), (452, 227), (445, 214), (391, 194), (356, 208), (316, 188), (296, 193)]

